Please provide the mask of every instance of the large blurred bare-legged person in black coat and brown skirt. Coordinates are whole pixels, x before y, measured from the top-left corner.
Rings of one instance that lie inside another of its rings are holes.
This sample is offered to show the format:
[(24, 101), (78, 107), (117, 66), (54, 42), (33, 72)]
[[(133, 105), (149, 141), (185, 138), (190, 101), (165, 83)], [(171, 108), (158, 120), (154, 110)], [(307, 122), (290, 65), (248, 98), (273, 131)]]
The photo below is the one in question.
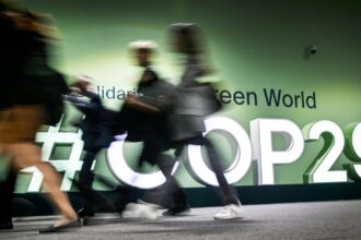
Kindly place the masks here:
[[(42, 148), (35, 143), (35, 134), (42, 124), (54, 124), (59, 120), (56, 119), (61, 109), (58, 104), (67, 86), (61, 74), (48, 65), (47, 47), (51, 38), (48, 19), (40, 13), (14, 11), (7, 3), (0, 3), (1, 25), (4, 26), (1, 27), (1, 32), (4, 31), (0, 41), (4, 61), (1, 61), (0, 74), (1, 84), (7, 87), (1, 89), (0, 154), (10, 158), (11, 171), (31, 166), (42, 171), (48, 196), (58, 208), (60, 219), (40, 232), (54, 232), (72, 226), (78, 218), (68, 196), (60, 191), (59, 175), (53, 166), (42, 161)], [(13, 183), (12, 180), (10, 184)], [(7, 188), (13, 190), (13, 185)], [(11, 221), (8, 227), (12, 228)]]

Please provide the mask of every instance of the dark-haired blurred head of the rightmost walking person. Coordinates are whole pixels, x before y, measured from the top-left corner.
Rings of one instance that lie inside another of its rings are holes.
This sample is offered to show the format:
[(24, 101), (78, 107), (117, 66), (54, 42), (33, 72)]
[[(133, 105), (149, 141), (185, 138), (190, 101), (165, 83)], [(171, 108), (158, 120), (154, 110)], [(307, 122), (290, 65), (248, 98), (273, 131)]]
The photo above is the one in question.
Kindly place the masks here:
[(203, 52), (203, 35), (194, 23), (176, 23), (170, 26), (170, 44), (175, 52), (200, 55)]

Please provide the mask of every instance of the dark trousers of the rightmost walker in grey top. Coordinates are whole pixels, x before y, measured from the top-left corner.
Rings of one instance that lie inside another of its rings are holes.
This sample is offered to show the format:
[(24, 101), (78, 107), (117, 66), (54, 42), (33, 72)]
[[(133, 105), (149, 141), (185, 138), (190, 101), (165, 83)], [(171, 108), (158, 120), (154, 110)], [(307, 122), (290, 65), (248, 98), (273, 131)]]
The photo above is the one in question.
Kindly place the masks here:
[(213, 172), (216, 173), (220, 191), (221, 199), (224, 203), (224, 205), (228, 204), (238, 204), (240, 200), (237, 196), (236, 191), (228, 183), (224, 173), (223, 173), (223, 167), (221, 163), (221, 158), (219, 157), (219, 154), (217, 153), (213, 144), (207, 140), (203, 136), (197, 136), (193, 139), (183, 140), (176, 143), (176, 158), (180, 158), (182, 153), (187, 144), (193, 145), (201, 145), (206, 147), (206, 152), (211, 165), (211, 168)]

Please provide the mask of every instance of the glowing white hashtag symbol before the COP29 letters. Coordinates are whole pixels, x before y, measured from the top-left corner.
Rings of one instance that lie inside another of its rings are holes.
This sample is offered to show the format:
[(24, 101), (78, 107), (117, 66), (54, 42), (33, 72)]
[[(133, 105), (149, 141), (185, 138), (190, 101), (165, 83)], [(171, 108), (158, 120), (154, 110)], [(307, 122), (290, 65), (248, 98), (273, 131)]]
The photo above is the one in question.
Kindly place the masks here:
[[(42, 157), (44, 161), (49, 161), (57, 171), (65, 172), (60, 189), (70, 191), (75, 172), (81, 169), (80, 161), (83, 149), (83, 141), (81, 140), (82, 132), (61, 132), (62, 120), (56, 127), (49, 127), (47, 132), (37, 132), (36, 142), (43, 143)], [(51, 153), (56, 144), (71, 144), (71, 153), (69, 159), (51, 160)], [(95, 160), (94, 160), (95, 164)], [(93, 165), (94, 166), (94, 165)], [(24, 168), (22, 172), (32, 173), (32, 179), (27, 188), (27, 192), (39, 192), (43, 185), (43, 173), (36, 167)]]

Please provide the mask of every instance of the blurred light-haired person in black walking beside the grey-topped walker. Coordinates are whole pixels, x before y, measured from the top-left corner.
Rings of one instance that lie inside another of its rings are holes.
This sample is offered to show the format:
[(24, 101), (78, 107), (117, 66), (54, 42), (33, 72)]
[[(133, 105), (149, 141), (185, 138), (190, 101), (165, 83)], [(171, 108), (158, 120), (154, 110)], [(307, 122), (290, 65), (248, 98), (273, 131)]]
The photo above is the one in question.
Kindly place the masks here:
[[(156, 218), (155, 205), (168, 206), (172, 211), (189, 211), (187, 197), (172, 176), (175, 159), (165, 154), (171, 148), (166, 119), (173, 109), (175, 87), (160, 79), (152, 65), (156, 44), (137, 40), (129, 44), (137, 62), (142, 68), (137, 96), (128, 96), (120, 111), (120, 125), (128, 132), (126, 141), (142, 142), (138, 168), (144, 163), (158, 166), (166, 181), (158, 189), (148, 190), (142, 196), (143, 204), (133, 205), (145, 217)], [(151, 204), (147, 204), (151, 203)]]

